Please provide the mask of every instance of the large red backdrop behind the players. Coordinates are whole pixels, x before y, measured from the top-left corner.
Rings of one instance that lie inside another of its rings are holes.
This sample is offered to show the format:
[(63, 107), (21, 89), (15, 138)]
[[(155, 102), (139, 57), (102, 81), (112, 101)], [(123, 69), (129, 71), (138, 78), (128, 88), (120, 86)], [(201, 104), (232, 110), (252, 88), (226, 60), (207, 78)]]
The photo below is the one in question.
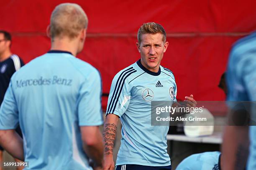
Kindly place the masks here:
[[(0, 5), (0, 29), (13, 35), (12, 51), (29, 62), (50, 48), (46, 37), (51, 11), (62, 0), (7, 0)], [(100, 70), (103, 92), (114, 75), (140, 58), (136, 33), (141, 24), (164, 26), (169, 47), (161, 65), (174, 72), (177, 98), (224, 100), (217, 87), (230, 48), (256, 30), (255, 0), (77, 0), (89, 18), (87, 40), (79, 58)], [(42, 63), (44, 64), (44, 63)], [(107, 97), (103, 97), (106, 107)]]

